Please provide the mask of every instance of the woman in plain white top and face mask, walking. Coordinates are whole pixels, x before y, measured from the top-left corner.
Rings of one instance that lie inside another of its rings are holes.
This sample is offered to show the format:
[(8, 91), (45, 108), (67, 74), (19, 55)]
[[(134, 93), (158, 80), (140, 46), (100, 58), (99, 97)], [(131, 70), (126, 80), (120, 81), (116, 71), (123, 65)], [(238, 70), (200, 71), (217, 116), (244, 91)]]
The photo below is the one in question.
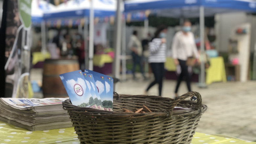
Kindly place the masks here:
[[(175, 34), (172, 42), (172, 53), (174, 63), (175, 65), (181, 66), (181, 74), (177, 81), (175, 97), (178, 97), (178, 89), (184, 77), (187, 83), (188, 91), (191, 91), (190, 75), (188, 72), (188, 66), (186, 65), (186, 61), (189, 57), (193, 57), (193, 55), (196, 57), (196, 59), (199, 59), (194, 34), (190, 31), (191, 22), (186, 20), (183, 24), (182, 31), (178, 31)], [(196, 100), (196, 98), (193, 96), (191, 100)]]

